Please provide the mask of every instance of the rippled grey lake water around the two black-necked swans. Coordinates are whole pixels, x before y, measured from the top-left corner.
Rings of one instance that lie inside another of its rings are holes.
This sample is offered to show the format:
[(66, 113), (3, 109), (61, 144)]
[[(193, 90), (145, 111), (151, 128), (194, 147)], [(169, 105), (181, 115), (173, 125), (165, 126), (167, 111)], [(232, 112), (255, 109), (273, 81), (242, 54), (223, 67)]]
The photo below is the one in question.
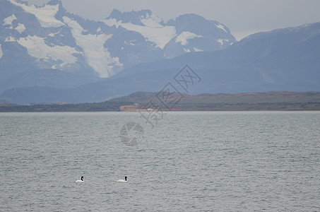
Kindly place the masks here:
[(0, 211), (320, 211), (320, 112), (0, 113), (0, 151)]

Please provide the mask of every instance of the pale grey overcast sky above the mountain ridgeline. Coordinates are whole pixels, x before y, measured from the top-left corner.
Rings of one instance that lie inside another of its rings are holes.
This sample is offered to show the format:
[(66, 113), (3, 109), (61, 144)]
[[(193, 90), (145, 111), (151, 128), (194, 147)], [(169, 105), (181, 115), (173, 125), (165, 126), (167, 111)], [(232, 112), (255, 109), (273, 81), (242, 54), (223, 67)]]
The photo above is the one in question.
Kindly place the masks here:
[[(47, 0), (28, 0), (42, 5)], [(148, 8), (163, 20), (196, 13), (217, 20), (237, 40), (251, 33), (320, 21), (320, 0), (61, 0), (67, 11), (83, 18), (107, 18), (113, 8), (137, 11)]]

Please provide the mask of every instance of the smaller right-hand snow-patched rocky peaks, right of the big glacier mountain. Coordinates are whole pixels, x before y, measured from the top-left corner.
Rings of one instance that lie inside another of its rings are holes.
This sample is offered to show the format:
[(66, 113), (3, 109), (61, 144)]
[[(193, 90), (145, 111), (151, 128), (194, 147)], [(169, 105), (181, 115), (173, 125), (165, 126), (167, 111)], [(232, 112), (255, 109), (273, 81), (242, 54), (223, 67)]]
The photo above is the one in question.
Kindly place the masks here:
[[(143, 42), (160, 53), (159, 59), (161, 57), (170, 59), (186, 52), (225, 49), (235, 42), (235, 37), (225, 25), (215, 20), (206, 20), (195, 14), (179, 16), (176, 20), (164, 23), (150, 10), (128, 13), (114, 10), (108, 18), (102, 21), (110, 27), (124, 28), (142, 35)], [(137, 43), (139, 40), (126, 41), (120, 49), (123, 50), (126, 45)]]

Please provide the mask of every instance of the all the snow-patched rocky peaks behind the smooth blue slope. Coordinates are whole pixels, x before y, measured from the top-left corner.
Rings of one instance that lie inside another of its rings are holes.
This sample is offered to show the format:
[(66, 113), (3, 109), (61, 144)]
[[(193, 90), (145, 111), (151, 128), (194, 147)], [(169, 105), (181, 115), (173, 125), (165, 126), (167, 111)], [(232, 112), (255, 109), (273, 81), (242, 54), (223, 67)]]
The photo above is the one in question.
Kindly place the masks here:
[(164, 23), (149, 10), (114, 10), (93, 21), (69, 13), (59, 0), (43, 6), (0, 1), (1, 80), (39, 69), (108, 78), (141, 62), (225, 49), (235, 41), (225, 25), (194, 14)]

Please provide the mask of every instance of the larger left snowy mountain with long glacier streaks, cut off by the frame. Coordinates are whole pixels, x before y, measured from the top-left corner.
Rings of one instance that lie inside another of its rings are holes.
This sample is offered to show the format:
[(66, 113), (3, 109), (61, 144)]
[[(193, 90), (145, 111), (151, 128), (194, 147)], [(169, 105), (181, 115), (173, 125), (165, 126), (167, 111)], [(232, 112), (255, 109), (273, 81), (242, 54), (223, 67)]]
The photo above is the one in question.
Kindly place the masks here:
[(0, 20), (0, 66), (1, 72), (6, 72), (2, 76), (29, 68), (95, 71), (103, 78), (122, 69), (119, 58), (112, 57), (103, 46), (112, 37), (112, 30), (105, 29), (109, 27), (103, 23), (67, 13), (60, 1), (52, 0), (41, 7), (1, 1)]

